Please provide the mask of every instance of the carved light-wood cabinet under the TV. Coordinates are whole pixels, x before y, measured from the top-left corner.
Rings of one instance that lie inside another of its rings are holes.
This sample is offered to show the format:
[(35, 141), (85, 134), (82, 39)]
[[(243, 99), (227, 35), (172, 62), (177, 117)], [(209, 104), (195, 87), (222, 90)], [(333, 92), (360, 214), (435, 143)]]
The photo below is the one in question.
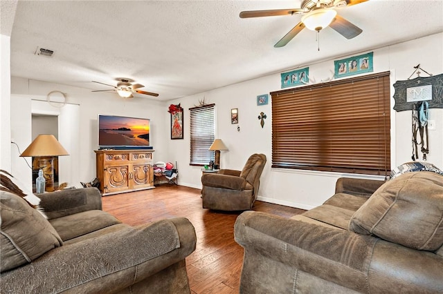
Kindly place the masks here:
[(154, 150), (95, 150), (102, 195), (154, 187)]

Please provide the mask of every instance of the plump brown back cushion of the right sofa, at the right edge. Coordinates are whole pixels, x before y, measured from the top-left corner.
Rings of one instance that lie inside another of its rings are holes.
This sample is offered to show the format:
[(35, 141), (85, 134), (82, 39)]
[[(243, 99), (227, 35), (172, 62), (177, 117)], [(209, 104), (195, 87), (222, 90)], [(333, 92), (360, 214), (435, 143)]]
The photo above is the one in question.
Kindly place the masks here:
[(354, 213), (349, 228), (410, 248), (437, 250), (443, 244), (443, 175), (413, 172), (386, 182)]

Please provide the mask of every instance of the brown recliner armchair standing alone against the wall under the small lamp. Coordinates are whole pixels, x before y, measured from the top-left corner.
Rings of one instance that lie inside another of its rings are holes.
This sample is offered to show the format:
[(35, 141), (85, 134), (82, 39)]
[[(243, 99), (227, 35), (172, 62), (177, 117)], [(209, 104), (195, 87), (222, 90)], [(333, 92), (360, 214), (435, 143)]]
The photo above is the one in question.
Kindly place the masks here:
[(242, 171), (219, 170), (201, 177), (203, 208), (213, 210), (248, 210), (257, 199), (260, 175), (266, 164), (264, 154), (248, 158)]

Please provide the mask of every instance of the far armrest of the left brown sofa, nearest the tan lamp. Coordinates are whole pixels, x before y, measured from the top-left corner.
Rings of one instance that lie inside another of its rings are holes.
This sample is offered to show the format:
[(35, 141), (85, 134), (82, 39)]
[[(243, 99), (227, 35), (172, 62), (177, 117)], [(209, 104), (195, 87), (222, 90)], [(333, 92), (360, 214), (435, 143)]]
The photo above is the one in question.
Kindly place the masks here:
[(102, 210), (102, 195), (98, 188), (78, 188), (39, 194), (39, 206), (48, 219), (73, 215), (87, 210)]

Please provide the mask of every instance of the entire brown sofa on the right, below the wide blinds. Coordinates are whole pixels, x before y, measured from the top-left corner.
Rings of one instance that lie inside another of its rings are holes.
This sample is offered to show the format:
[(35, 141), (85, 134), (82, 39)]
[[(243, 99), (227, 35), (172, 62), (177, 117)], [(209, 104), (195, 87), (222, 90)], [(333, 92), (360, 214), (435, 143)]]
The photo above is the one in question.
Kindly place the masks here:
[(341, 178), (291, 219), (247, 211), (241, 293), (443, 293), (443, 176)]

